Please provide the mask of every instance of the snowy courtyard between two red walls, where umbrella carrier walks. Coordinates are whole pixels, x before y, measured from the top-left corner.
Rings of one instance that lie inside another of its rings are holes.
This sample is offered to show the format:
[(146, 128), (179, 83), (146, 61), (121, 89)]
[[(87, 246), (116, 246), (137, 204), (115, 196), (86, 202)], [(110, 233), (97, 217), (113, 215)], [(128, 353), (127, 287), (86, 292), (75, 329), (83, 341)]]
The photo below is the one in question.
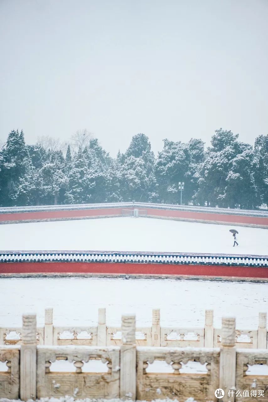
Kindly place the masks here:
[(166, 219), (113, 217), (0, 225), (0, 250), (111, 250), (268, 254), (268, 230)]

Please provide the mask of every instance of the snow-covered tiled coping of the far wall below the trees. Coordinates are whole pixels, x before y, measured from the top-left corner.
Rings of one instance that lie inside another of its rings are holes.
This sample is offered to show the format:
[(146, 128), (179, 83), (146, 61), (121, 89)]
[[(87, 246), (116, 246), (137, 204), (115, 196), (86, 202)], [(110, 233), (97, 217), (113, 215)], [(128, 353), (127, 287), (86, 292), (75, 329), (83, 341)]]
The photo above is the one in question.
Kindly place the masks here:
[(191, 211), (217, 213), (224, 215), (241, 215), (268, 217), (268, 211), (255, 211), (246, 209), (229, 209), (229, 208), (211, 208), (196, 207), (191, 205), (173, 205), (173, 204), (156, 204), (156, 203), (99, 203), (99, 204), (74, 204), (74, 205), (37, 205), (31, 207), (0, 207), (0, 213), (18, 213), (18, 212), (41, 212), (41, 211), (68, 211), (79, 209), (108, 209), (108, 208), (149, 208), (149, 209), (168, 209), (173, 211)]

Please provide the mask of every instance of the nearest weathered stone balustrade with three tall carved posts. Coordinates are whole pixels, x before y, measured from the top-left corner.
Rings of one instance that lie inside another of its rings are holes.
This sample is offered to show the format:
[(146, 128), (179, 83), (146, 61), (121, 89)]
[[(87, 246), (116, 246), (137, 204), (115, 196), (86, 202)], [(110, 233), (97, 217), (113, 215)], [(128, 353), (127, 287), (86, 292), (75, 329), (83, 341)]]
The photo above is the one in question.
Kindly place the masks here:
[[(36, 316), (24, 314), (21, 345), (0, 346), (7, 367), (0, 372), (0, 398), (215, 401), (224, 392), (223, 402), (234, 402), (237, 392), (252, 392), (267, 400), (268, 351), (237, 349), (235, 318), (222, 318), (221, 348), (137, 347), (136, 330), (135, 315), (123, 315), (120, 346), (39, 346)], [(155, 367), (161, 362), (165, 367)], [(253, 365), (259, 365), (254, 375)]]

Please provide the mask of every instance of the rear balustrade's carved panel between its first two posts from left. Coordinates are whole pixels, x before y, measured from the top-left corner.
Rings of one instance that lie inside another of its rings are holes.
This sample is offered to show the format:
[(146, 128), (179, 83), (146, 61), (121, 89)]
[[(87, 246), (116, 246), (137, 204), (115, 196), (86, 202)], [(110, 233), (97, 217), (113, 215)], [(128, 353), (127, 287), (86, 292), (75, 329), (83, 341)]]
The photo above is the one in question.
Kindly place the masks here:
[(54, 327), (53, 345), (97, 345), (97, 327)]

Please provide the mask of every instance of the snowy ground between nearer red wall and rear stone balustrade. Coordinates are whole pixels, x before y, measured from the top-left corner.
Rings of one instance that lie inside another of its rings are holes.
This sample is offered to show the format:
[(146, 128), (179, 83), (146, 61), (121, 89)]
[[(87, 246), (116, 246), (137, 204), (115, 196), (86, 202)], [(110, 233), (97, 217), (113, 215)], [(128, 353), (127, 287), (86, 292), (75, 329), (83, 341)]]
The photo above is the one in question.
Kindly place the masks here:
[(237, 328), (257, 329), (258, 313), (268, 311), (266, 283), (175, 279), (6, 278), (0, 279), (0, 326), (21, 326), (22, 314), (37, 313), (44, 324), (46, 307), (54, 324), (96, 325), (98, 308), (106, 308), (108, 325), (120, 326), (121, 315), (135, 313), (138, 326), (151, 325), (152, 308), (161, 309), (162, 326), (203, 327), (205, 309), (214, 324), (235, 316)]

